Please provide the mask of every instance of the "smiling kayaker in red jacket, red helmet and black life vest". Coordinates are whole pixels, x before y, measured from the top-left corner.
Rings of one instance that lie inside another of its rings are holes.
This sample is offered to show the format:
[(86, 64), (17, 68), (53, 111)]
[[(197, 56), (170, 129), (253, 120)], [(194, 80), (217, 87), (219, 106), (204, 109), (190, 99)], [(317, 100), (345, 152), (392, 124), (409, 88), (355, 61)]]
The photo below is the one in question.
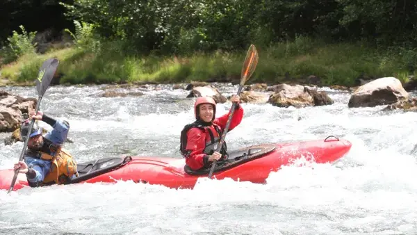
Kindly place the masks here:
[[(237, 106), (231, 118), (228, 132), (233, 130), (243, 118), (243, 108), (239, 105), (240, 97), (231, 96), (231, 102)], [(188, 124), (181, 131), (181, 154), (186, 158), (186, 165), (193, 170), (210, 167), (214, 160), (222, 156), (227, 159), (226, 142), (219, 152), (215, 152), (224, 128), (226, 127), (229, 113), (215, 118), (215, 101), (211, 97), (198, 97), (194, 104), (196, 121)]]

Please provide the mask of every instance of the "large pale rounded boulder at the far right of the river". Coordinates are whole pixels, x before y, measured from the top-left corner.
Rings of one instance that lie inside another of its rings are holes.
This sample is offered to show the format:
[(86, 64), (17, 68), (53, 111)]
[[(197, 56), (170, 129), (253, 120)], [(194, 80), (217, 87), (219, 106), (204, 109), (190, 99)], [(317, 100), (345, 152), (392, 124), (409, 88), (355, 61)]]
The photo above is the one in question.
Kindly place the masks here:
[(402, 88), (400, 80), (394, 77), (384, 77), (354, 90), (348, 106), (350, 108), (374, 107), (400, 102), (408, 97), (409, 94)]

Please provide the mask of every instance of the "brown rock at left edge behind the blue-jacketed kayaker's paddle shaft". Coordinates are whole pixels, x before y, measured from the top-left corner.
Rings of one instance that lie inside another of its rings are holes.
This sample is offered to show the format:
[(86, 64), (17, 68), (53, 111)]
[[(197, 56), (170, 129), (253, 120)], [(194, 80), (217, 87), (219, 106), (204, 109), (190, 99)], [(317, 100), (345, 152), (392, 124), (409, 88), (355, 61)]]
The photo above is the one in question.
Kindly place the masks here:
[(24, 98), (0, 90), (0, 131), (14, 131), (23, 121), (23, 113), (34, 111), (37, 99)]

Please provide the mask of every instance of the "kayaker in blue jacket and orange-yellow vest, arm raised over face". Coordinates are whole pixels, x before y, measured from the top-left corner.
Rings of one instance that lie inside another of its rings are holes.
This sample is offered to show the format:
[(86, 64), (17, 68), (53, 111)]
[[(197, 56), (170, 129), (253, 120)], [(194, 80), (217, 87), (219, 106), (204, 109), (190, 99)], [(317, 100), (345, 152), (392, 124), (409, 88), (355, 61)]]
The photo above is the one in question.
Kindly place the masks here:
[(46, 122), (53, 129), (42, 136), (42, 127), (35, 121), (24, 152), (24, 161), (16, 163), (14, 168), (19, 168), (19, 173), (26, 174), (31, 187), (65, 184), (69, 179), (78, 176), (74, 159), (62, 147), (67, 139), (70, 124), (64, 120), (55, 120), (41, 111), (36, 115), (35, 112), (31, 112), (20, 127), (20, 136), (24, 141), (32, 118)]

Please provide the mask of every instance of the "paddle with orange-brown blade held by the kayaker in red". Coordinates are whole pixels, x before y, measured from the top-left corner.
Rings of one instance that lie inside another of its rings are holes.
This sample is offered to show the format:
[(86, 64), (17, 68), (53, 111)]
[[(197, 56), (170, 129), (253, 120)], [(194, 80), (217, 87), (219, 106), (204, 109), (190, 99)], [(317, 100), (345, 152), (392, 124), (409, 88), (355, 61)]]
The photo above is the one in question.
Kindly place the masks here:
[[(250, 76), (252, 76), (252, 74), (254, 73), (256, 65), (258, 65), (258, 51), (256, 51), (256, 47), (252, 44), (247, 50), (245, 62), (243, 63), (243, 66), (242, 66), (242, 72), (240, 72), (241, 78), (240, 78), (240, 84), (239, 84), (237, 95), (240, 95), (240, 93), (242, 92), (243, 86), (245, 86), (245, 82), (249, 80)], [(229, 118), (227, 119), (226, 128), (224, 128), (222, 138), (220, 139), (220, 144), (218, 145), (218, 149), (216, 150), (216, 152), (220, 152), (220, 149), (222, 149), (224, 138), (226, 138), (226, 133), (229, 130), (231, 117), (233, 117), (235, 108), (236, 108), (236, 103), (233, 103), (229, 111)], [(213, 175), (213, 171), (214, 171), (216, 163), (217, 161), (214, 160), (213, 165), (211, 165), (208, 178), (211, 178), (211, 175)]]

